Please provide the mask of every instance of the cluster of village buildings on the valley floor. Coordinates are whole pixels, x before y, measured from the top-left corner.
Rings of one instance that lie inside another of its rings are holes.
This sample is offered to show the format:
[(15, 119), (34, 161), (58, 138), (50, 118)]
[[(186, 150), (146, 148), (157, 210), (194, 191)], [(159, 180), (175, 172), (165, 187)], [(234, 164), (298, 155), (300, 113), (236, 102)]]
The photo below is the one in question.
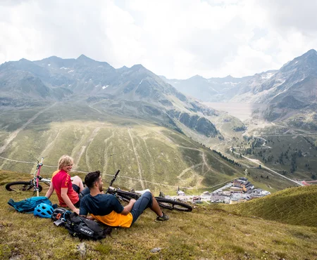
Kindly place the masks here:
[(246, 202), (256, 197), (264, 197), (269, 194), (271, 193), (267, 190), (254, 188), (254, 185), (251, 184), (247, 178), (240, 177), (212, 193), (205, 191), (201, 193), (201, 195), (186, 195), (182, 190), (178, 189), (178, 195), (171, 196), (171, 198), (193, 203), (201, 203), (204, 201), (207, 203), (234, 204)]

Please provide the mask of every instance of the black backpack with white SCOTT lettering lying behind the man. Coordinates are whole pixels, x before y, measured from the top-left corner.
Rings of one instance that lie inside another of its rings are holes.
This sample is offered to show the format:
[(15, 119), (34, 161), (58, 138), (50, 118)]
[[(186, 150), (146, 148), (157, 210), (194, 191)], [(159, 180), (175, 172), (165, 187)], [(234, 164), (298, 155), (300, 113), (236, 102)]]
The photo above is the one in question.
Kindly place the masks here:
[(106, 238), (106, 235), (111, 235), (112, 231), (112, 228), (109, 226), (101, 228), (96, 221), (78, 216), (75, 213), (71, 214), (66, 220), (65, 228), (70, 235), (80, 240), (100, 240)]

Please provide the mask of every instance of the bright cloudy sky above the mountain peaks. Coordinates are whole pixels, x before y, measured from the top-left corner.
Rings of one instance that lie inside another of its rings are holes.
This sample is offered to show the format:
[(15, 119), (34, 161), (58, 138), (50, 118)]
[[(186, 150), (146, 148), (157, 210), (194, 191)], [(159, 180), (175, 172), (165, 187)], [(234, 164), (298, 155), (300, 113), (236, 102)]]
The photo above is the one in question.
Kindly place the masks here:
[(168, 78), (243, 77), (317, 49), (316, 0), (0, 0), (0, 63), (81, 54)]

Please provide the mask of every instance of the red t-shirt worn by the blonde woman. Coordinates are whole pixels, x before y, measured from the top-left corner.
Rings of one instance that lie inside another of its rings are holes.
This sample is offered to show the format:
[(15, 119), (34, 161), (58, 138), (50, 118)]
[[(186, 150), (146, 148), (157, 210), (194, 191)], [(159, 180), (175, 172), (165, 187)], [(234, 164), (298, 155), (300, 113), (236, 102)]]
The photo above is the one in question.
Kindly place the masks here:
[(63, 198), (61, 197), (62, 188), (68, 188), (67, 195), (73, 204), (76, 204), (76, 202), (78, 202), (78, 193), (76, 193), (75, 190), (73, 190), (70, 175), (66, 171), (54, 171), (53, 176), (51, 177), (51, 182), (53, 183), (54, 190), (56, 191), (58, 201), (61, 207), (67, 207), (67, 204), (63, 201)]

